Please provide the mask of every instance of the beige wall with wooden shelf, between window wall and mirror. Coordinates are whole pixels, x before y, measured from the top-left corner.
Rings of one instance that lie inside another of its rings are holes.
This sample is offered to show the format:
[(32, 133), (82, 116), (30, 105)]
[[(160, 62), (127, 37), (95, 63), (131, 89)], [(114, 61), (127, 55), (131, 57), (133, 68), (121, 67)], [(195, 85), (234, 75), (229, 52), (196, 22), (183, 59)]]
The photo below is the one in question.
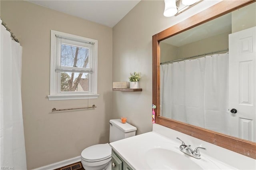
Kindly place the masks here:
[(163, 0), (142, 0), (114, 26), (113, 81), (129, 81), (130, 72), (140, 72), (142, 92), (113, 91), (113, 117), (126, 116), (137, 127), (136, 134), (152, 130), (152, 36), (217, 2), (203, 1), (167, 18)]

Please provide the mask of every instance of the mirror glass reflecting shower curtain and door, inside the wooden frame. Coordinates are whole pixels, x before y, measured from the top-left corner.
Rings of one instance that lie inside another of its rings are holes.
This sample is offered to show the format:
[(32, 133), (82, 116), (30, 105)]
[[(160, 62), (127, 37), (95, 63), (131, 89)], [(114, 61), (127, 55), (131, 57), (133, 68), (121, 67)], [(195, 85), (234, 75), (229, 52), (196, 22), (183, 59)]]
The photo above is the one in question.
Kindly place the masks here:
[(160, 115), (256, 142), (255, 31), (252, 3), (161, 41)]

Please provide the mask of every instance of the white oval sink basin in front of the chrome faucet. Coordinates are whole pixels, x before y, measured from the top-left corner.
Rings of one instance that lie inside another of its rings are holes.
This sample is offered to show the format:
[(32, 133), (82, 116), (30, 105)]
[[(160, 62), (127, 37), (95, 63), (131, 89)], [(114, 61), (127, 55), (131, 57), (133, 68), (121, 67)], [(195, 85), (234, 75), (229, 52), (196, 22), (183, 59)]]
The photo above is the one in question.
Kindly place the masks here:
[(177, 144), (161, 142), (150, 146), (145, 144), (139, 152), (143, 164), (151, 170), (206, 170), (220, 169), (205, 156), (196, 159), (180, 152)]

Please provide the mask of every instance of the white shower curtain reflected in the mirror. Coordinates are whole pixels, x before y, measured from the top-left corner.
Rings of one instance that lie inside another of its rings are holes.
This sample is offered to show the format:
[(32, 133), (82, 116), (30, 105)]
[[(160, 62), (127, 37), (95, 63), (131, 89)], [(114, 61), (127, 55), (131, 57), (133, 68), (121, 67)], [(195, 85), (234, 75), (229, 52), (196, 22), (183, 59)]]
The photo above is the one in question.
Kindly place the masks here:
[(160, 113), (226, 133), (228, 53), (160, 66)]

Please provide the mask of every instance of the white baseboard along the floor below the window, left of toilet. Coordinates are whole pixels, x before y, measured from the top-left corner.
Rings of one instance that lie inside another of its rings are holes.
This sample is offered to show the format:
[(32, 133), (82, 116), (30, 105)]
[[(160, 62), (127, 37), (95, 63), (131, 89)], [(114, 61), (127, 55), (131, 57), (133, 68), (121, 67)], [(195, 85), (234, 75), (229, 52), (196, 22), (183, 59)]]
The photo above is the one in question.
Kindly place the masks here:
[(33, 169), (33, 170), (54, 170), (54, 169), (61, 168), (63, 166), (74, 164), (74, 163), (80, 162), (80, 161), (81, 161), (81, 156), (76, 156), (74, 158), (62, 160), (60, 162), (56, 162), (56, 163), (49, 164), (46, 166), (41, 166), (41, 167)]

